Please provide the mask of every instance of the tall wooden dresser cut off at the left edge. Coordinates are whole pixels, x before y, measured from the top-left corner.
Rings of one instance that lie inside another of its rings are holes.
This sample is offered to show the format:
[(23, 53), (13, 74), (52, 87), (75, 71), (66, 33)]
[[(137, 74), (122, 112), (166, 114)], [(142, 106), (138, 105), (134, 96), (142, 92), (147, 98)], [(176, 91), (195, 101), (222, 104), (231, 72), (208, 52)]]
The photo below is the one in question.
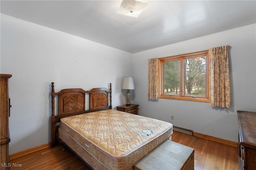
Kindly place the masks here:
[(9, 134), (9, 116), (10, 116), (10, 98), (9, 98), (9, 88), (8, 80), (12, 77), (11, 74), (0, 74), (1, 77), (1, 86), (0, 86), (0, 103), (1, 103), (1, 117), (0, 117), (0, 126), (1, 126), (1, 146), (0, 146), (0, 170), (10, 169), (9, 164), (9, 143), (10, 143), (10, 134)]

